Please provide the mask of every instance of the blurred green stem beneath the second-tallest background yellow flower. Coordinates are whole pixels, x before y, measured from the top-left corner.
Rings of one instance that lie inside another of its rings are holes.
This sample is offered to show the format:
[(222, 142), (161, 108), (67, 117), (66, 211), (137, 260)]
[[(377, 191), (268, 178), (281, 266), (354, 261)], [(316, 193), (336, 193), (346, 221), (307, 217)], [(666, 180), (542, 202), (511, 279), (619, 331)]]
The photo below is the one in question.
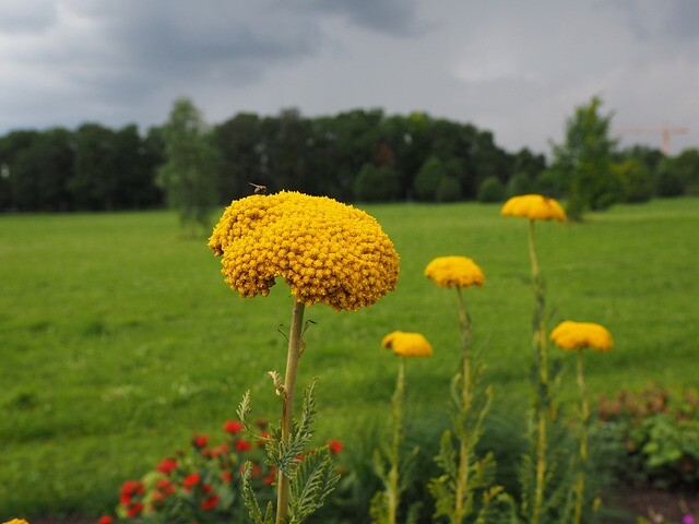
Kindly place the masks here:
[[(472, 391), (471, 391), (471, 319), (466, 312), (461, 288), (457, 287), (457, 297), (459, 299), (459, 320), (461, 322), (461, 358), (462, 358), (462, 380), (463, 380), (463, 420), (465, 421), (469, 409), (471, 408)], [(466, 428), (458, 428), (460, 446), (459, 446), (459, 473), (457, 478), (457, 493), (454, 501), (453, 524), (463, 522), (463, 504), (466, 487), (469, 485), (469, 433)]]

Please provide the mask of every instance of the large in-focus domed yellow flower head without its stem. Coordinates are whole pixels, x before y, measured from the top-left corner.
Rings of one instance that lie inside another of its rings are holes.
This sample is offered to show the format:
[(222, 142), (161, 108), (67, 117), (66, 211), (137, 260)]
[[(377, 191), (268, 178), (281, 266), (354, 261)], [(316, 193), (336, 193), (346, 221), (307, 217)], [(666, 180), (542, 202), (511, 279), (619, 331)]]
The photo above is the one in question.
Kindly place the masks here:
[(379, 223), (325, 196), (282, 191), (234, 201), (209, 247), (242, 297), (266, 296), (284, 277), (296, 299), (335, 310), (370, 306), (395, 289), (399, 257)]

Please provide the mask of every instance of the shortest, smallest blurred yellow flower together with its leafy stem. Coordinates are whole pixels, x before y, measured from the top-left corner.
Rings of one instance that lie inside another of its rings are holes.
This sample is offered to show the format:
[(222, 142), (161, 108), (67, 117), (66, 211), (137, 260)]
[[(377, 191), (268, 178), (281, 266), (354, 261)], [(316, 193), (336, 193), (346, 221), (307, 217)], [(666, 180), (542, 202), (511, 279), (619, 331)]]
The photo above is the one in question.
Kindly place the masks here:
[[(433, 346), (419, 333), (405, 333), (394, 331), (381, 341), (384, 349), (391, 349), (399, 357), (398, 377), (395, 390), (391, 401), (391, 437), (386, 451), (384, 463), (379, 450), (375, 452), (376, 468), (383, 490), (375, 495), (371, 500), (370, 513), (372, 522), (396, 524), (401, 496), (405, 490), (405, 478), (401, 471), (401, 446), (403, 443), (403, 404), (405, 397), (405, 360), (411, 357), (429, 357), (433, 355)], [(387, 471), (388, 466), (388, 471)]]

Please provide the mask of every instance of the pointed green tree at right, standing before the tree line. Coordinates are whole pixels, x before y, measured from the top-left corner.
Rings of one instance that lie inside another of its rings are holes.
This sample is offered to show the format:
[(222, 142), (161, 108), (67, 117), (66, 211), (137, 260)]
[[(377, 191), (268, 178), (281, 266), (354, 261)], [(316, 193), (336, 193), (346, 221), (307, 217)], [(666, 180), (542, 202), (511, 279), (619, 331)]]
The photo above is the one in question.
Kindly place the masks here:
[(616, 141), (609, 138), (613, 115), (601, 115), (602, 100), (593, 97), (566, 120), (566, 140), (553, 144), (552, 169), (568, 194), (568, 215), (581, 219), (588, 210), (604, 210), (623, 196), (612, 169)]

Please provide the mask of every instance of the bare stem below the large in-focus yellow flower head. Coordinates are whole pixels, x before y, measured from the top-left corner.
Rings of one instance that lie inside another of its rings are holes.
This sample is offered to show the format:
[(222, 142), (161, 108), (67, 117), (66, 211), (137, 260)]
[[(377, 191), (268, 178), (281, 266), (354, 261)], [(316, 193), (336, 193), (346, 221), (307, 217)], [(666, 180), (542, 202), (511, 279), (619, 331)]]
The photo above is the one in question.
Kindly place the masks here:
[[(282, 392), (282, 442), (288, 442), (294, 424), (294, 392), (296, 389), (298, 361), (301, 356), (303, 323), (304, 303), (294, 301), (286, 354), (286, 374), (284, 377), (284, 391)], [(287, 512), (288, 478), (280, 472), (276, 492), (276, 524), (282, 524), (286, 520)]]

